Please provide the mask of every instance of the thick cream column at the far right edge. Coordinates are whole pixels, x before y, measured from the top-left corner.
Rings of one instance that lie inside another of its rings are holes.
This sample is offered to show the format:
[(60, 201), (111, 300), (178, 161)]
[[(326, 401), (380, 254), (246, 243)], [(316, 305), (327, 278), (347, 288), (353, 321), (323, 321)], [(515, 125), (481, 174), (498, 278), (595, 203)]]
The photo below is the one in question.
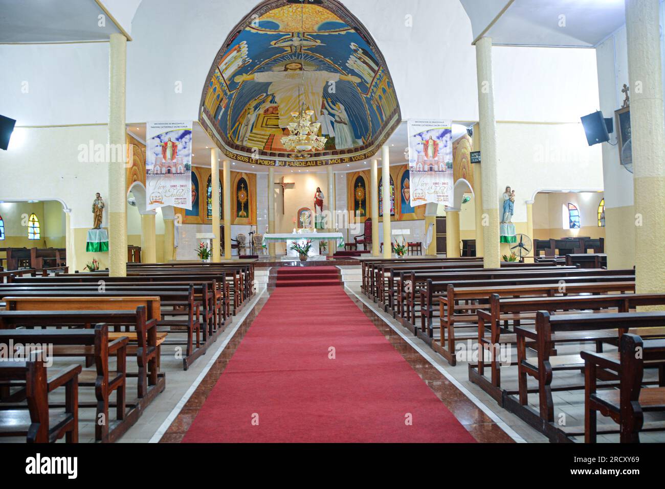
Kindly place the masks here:
[(636, 292), (665, 292), (665, 133), (658, 0), (626, 0)]

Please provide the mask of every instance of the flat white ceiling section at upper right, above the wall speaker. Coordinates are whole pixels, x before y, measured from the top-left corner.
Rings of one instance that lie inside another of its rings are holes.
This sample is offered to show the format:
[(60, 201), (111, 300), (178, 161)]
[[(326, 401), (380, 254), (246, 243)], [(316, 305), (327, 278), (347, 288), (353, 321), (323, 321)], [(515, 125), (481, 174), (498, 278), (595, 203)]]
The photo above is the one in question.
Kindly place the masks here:
[(595, 47), (626, 22), (624, 0), (460, 1), (495, 46)]

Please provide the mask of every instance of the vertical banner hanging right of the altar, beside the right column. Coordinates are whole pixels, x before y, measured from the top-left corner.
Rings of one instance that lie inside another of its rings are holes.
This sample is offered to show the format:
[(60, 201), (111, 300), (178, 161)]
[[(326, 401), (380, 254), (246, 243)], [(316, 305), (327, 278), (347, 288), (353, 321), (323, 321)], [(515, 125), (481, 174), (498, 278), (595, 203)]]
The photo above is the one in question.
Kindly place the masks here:
[(411, 205), (453, 205), (452, 121), (408, 122)]

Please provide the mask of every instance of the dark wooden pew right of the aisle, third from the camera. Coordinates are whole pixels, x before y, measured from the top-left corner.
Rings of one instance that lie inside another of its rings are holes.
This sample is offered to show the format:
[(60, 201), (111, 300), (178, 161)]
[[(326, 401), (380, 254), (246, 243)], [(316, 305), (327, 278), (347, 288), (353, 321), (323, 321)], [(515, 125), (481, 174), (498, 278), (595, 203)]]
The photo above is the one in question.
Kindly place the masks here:
[[(469, 380), (479, 385), (499, 404), (503, 403), (504, 395), (516, 394), (517, 390), (501, 387), (501, 365), (499, 365), (496, 352), (502, 346), (517, 344), (517, 337), (509, 330), (509, 326), (515, 328), (522, 326), (523, 322), (535, 322), (538, 311), (547, 310), (550, 314), (579, 313), (583, 310), (629, 312), (639, 306), (662, 304), (665, 304), (665, 294), (600, 294), (529, 298), (509, 298), (492, 294), (489, 297), (487, 309), (476, 312), (481, 353), (477, 364), (469, 362)], [(483, 355), (483, 352), (487, 353)], [(491, 371), (489, 381), (484, 376), (486, 361), (489, 361)], [(511, 362), (511, 365), (517, 365), (517, 363)]]

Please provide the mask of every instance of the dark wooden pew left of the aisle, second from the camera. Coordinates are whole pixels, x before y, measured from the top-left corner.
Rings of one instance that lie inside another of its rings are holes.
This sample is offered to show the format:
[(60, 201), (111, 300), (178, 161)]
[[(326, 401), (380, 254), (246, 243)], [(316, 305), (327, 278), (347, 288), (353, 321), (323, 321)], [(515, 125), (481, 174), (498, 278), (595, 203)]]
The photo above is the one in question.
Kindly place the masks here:
[[(78, 386), (94, 387), (97, 402), (95, 416), (95, 439), (111, 441), (109, 405), (110, 396), (116, 393), (116, 418), (122, 424), (125, 418), (126, 362), (125, 353), (128, 338), (122, 336), (112, 342), (108, 338), (108, 326), (97, 324), (94, 330), (0, 330), (0, 343), (37, 344), (68, 346), (67, 356), (94, 356), (95, 371), (82, 371), (78, 367)], [(86, 348), (87, 347), (87, 348)], [(116, 357), (116, 369), (110, 371), (109, 357)], [(27, 389), (25, 397), (29, 396)], [(14, 396), (17, 397), (17, 396)], [(15, 401), (23, 401), (21, 397)], [(77, 401), (78, 404), (78, 401)], [(114, 437), (115, 438), (115, 437)]]

